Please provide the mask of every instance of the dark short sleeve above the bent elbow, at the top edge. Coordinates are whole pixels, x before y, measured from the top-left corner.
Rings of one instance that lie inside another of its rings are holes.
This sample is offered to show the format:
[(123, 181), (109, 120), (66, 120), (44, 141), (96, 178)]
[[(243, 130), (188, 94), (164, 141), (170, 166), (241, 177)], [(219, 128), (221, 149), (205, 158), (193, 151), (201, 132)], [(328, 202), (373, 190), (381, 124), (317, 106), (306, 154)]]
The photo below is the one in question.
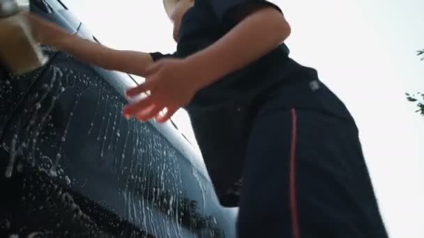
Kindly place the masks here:
[(205, 0), (209, 3), (209, 6), (213, 8), (215, 15), (222, 21), (226, 19), (230, 12), (234, 8), (248, 8), (250, 6), (271, 6), (280, 13), (282, 13), (281, 8), (279, 8), (274, 3), (265, 0)]

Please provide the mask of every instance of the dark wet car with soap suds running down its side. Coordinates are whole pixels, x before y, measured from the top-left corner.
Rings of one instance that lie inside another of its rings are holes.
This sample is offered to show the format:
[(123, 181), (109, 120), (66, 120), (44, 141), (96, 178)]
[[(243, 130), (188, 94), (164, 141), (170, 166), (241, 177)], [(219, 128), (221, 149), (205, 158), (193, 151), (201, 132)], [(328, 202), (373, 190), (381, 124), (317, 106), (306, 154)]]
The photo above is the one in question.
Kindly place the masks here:
[[(31, 10), (96, 40), (61, 1)], [(43, 49), (43, 68), (0, 67), (0, 237), (235, 237), (173, 123), (122, 117), (135, 79)]]

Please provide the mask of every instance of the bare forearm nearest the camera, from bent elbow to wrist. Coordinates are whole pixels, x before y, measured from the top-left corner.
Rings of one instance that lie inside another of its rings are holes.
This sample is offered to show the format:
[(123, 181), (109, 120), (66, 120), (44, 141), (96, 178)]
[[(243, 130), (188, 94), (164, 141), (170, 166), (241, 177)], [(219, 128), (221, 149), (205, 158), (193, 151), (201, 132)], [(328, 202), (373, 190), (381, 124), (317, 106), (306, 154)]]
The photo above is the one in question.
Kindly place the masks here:
[(210, 47), (186, 58), (199, 88), (244, 68), (278, 47), (290, 34), (284, 16), (273, 8), (257, 10)]

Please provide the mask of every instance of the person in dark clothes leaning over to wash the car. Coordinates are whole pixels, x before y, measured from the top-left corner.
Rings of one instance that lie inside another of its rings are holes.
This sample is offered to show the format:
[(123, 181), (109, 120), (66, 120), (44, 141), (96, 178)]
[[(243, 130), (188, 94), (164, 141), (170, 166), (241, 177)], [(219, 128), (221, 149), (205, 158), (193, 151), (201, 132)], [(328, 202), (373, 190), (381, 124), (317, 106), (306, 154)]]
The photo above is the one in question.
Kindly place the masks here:
[(238, 237), (387, 237), (355, 122), (316, 70), (289, 58), (282, 10), (164, 3), (174, 54), (117, 51), (29, 18), (40, 42), (146, 78), (126, 92), (149, 92), (126, 118), (165, 122), (187, 109), (220, 203), (239, 205)]

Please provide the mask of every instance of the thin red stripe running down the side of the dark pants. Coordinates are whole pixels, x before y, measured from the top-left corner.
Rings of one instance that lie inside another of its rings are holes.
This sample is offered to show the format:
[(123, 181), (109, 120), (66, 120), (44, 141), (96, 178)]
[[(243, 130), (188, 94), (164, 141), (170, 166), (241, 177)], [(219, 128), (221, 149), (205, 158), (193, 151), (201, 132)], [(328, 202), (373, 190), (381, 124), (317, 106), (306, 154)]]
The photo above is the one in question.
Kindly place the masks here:
[(292, 234), (293, 238), (300, 238), (301, 233), (298, 223), (298, 211), (296, 205), (296, 140), (297, 140), (297, 115), (296, 109), (292, 109), (292, 145), (290, 150), (290, 209), (292, 212)]

